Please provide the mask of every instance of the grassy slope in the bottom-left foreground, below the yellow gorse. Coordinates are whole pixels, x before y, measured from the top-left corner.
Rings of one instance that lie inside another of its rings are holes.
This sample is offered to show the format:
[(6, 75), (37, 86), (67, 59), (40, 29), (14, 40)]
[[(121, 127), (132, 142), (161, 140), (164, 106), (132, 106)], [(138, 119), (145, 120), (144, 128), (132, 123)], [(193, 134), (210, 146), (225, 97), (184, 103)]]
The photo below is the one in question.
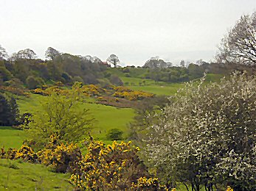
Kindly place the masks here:
[(0, 172), (0, 190), (72, 190), (69, 173), (53, 173), (44, 165), (0, 159)]

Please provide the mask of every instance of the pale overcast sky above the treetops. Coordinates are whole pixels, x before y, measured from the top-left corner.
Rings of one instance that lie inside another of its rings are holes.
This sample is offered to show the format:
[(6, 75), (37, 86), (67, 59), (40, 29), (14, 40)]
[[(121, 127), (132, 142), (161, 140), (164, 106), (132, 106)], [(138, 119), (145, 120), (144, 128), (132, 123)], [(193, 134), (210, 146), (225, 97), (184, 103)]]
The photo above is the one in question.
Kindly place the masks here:
[(9, 54), (49, 46), (125, 65), (154, 56), (212, 60), (221, 38), (255, 0), (0, 0), (0, 45)]

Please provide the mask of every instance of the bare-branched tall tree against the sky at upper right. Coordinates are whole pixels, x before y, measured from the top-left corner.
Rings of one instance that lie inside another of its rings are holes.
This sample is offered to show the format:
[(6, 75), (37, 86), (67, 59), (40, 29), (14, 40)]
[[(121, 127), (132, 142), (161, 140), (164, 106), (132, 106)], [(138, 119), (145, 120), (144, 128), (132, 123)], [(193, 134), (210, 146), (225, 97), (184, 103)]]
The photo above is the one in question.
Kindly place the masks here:
[(243, 15), (222, 39), (217, 62), (256, 65), (256, 12)]

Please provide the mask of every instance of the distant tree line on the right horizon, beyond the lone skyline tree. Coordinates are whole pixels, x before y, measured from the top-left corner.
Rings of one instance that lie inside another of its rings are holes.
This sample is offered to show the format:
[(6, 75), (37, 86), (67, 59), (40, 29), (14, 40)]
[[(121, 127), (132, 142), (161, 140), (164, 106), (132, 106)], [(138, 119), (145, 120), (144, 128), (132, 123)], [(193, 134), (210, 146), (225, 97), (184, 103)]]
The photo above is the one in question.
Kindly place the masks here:
[(184, 60), (180, 66), (173, 66), (170, 62), (165, 62), (158, 57), (153, 57), (142, 68), (148, 68), (145, 79), (153, 79), (155, 82), (188, 82), (204, 76), (204, 73), (230, 74), (234, 71), (252, 71), (252, 65), (241, 65), (236, 62), (204, 62), (198, 60), (191, 62), (185, 67)]

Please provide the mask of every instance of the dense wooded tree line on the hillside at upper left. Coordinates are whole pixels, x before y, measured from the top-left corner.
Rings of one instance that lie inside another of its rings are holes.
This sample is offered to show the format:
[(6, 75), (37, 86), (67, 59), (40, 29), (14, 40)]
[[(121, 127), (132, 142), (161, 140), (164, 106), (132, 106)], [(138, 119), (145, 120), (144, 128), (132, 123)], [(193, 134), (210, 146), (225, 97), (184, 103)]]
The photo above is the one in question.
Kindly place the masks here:
[(97, 57), (60, 53), (51, 47), (47, 48), (45, 56), (46, 60), (38, 59), (35, 52), (27, 48), (8, 57), (0, 46), (0, 85), (22, 87), (25, 84), (34, 89), (51, 81), (96, 84), (107, 68)]

